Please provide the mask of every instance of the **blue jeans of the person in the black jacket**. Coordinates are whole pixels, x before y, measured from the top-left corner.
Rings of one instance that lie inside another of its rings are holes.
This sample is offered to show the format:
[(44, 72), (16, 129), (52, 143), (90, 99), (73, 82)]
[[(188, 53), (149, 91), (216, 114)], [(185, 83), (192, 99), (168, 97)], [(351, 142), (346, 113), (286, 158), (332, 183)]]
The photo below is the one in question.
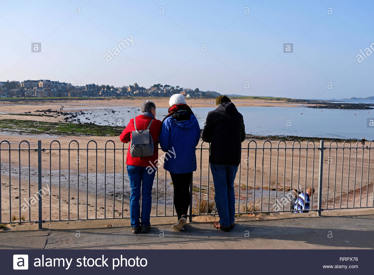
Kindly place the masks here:
[(235, 220), (234, 180), (238, 166), (212, 163), (210, 166), (214, 181), (214, 200), (218, 216), (220, 216), (220, 224), (229, 227)]

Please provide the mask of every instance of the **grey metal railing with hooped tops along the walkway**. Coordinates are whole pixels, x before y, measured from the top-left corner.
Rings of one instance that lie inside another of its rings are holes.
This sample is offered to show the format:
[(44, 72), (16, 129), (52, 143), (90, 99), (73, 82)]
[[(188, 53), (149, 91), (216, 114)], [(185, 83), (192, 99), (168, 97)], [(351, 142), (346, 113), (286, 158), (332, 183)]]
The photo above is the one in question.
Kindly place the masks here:
[[(250, 140), (234, 188), (236, 213), (290, 212), (292, 195), (312, 187), (310, 211), (374, 207), (373, 141), (363, 147), (350, 141)], [(243, 143), (245, 144), (245, 143)], [(35, 148), (31, 148), (34, 146)], [(196, 149), (197, 171), (191, 180), (189, 216), (217, 214), (214, 183), (209, 169), (209, 143)], [(46, 148), (45, 148), (46, 147)], [(127, 144), (113, 140), (99, 148), (90, 140), (62, 147), (0, 142), (0, 223), (117, 219), (129, 217), (130, 187), (126, 171)], [(159, 164), (163, 152), (159, 150)], [(184, 165), (181, 163), (181, 165)], [(83, 167), (83, 169), (82, 169)], [(175, 216), (170, 175), (156, 169), (152, 217)], [(83, 171), (82, 171), (83, 170)]]

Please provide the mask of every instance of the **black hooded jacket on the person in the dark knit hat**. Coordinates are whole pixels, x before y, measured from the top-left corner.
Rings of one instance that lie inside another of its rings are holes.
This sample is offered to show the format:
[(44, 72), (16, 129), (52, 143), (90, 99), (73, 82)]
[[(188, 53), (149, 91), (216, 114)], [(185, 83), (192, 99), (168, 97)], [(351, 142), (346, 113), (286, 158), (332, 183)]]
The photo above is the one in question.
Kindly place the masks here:
[(206, 117), (202, 139), (211, 143), (209, 162), (239, 165), (245, 140), (243, 116), (232, 102), (218, 105)]

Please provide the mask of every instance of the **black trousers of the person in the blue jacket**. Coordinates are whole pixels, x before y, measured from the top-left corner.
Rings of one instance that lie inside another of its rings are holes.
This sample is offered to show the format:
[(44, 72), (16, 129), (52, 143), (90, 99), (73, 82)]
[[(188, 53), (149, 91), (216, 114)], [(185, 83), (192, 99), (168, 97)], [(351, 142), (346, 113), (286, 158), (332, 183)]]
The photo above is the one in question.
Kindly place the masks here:
[(170, 175), (174, 186), (174, 207), (179, 220), (181, 216), (187, 216), (188, 207), (190, 206), (192, 172), (182, 174), (170, 173)]

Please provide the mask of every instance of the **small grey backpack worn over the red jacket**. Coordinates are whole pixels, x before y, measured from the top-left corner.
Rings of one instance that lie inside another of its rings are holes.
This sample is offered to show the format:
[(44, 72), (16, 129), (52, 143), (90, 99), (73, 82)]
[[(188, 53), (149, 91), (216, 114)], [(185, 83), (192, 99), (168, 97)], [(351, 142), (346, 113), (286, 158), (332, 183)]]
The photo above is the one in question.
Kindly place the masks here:
[[(136, 117), (135, 117), (136, 118)], [(152, 124), (153, 119), (148, 125), (148, 128), (142, 131), (138, 131), (137, 125), (135, 123), (135, 131), (132, 131), (131, 142), (130, 142), (130, 154), (133, 158), (144, 158), (153, 156), (153, 138), (149, 132), (149, 128)]]

